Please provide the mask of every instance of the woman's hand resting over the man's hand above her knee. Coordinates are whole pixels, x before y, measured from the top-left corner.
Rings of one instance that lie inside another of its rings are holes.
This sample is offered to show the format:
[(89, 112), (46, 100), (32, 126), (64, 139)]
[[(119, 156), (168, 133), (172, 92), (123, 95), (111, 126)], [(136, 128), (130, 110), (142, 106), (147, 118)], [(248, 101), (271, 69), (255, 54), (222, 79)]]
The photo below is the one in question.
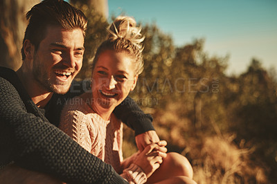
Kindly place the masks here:
[(163, 158), (166, 158), (166, 147), (163, 146), (166, 141), (160, 141), (159, 144), (152, 143), (145, 147), (143, 151), (135, 158), (134, 164), (143, 169), (143, 172), (149, 178), (156, 169), (163, 163)]

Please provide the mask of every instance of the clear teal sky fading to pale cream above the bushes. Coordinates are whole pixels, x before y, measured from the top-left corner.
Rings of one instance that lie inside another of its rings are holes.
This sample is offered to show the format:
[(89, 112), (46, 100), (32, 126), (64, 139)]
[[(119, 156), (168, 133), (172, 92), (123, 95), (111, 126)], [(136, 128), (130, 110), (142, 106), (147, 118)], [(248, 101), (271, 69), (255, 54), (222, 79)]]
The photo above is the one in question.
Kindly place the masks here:
[(253, 58), (277, 70), (277, 0), (108, 0), (109, 17), (124, 13), (155, 23), (175, 46), (205, 39), (209, 56), (229, 55), (226, 73), (247, 70)]

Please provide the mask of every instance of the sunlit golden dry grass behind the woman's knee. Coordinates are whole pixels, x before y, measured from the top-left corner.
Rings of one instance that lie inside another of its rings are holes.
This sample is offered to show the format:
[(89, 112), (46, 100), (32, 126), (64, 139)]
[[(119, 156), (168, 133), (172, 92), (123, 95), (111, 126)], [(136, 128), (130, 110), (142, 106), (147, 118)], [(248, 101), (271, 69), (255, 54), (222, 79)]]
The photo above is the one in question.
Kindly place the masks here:
[[(197, 183), (269, 183), (267, 169), (251, 160), (253, 149), (235, 145), (235, 136), (223, 134), (213, 124), (210, 133), (195, 129), (192, 122), (177, 113), (177, 105), (156, 111), (154, 127), (160, 138), (168, 141), (168, 149), (183, 154), (190, 160)], [(211, 134), (213, 132), (213, 134)], [(134, 133), (125, 128), (124, 156), (137, 149)]]

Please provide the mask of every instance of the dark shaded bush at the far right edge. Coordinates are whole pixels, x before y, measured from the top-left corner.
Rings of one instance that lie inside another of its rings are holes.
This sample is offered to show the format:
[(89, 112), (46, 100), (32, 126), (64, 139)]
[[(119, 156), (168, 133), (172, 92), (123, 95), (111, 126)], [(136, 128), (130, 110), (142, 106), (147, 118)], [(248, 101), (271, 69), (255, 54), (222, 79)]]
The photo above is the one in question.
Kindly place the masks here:
[[(275, 77), (275, 76), (274, 76)], [(277, 167), (277, 83), (262, 64), (253, 59), (247, 72), (238, 77), (240, 89), (234, 94), (234, 122), (230, 128), (238, 134), (237, 140), (246, 140), (255, 147), (253, 157), (269, 167)], [(271, 169), (271, 177), (276, 170)]]

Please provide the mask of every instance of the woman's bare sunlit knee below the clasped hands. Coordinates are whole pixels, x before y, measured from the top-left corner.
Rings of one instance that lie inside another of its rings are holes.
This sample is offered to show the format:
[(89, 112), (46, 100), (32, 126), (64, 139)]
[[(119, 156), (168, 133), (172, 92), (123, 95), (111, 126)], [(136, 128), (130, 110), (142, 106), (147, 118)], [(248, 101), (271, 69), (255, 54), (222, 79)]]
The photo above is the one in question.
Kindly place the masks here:
[(177, 176), (193, 178), (193, 167), (185, 156), (175, 152), (170, 152), (166, 158), (168, 163), (170, 163), (170, 169), (175, 169)]

